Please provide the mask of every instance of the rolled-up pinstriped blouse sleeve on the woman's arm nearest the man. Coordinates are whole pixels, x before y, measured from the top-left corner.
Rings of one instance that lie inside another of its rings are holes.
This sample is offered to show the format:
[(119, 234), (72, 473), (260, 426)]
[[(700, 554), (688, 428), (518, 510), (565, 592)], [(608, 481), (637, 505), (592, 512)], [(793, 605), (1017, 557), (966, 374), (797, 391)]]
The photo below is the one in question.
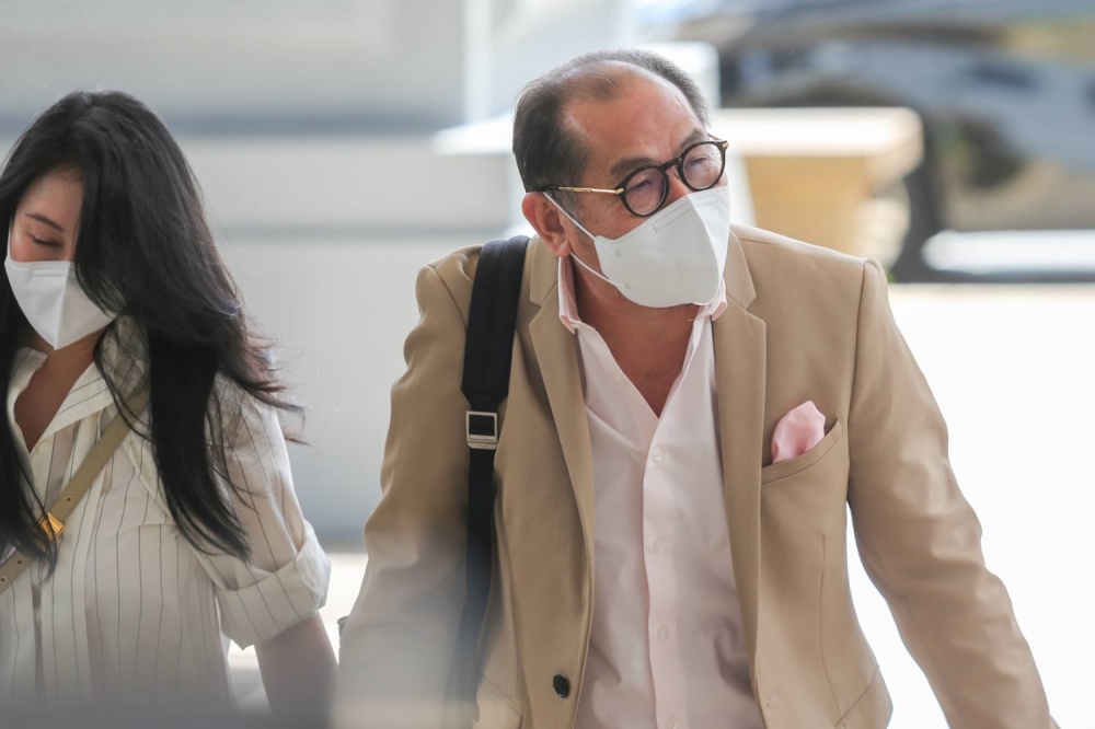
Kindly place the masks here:
[(251, 547), (245, 562), (201, 554), (216, 588), (221, 630), (246, 648), (314, 615), (331, 563), (297, 502), (289, 453), (274, 408), (244, 397), (228, 453), (229, 501)]

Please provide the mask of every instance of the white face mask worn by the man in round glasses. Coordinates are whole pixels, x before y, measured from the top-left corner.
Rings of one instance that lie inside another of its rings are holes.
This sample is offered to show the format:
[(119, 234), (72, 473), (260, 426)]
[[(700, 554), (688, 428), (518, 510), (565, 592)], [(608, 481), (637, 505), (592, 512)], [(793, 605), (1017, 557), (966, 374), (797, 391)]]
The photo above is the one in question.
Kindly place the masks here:
[[(549, 196), (548, 199), (551, 199)], [(615, 240), (593, 235), (552, 202), (578, 230), (593, 239), (604, 275), (572, 258), (641, 306), (706, 305), (718, 296), (730, 236), (730, 188), (685, 195)]]

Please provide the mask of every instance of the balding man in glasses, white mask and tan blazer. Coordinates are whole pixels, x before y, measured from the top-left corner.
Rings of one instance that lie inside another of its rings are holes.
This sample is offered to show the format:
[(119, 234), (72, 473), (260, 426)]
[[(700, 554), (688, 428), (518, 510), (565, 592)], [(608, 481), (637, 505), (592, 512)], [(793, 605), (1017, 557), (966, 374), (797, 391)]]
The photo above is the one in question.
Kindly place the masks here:
[(479, 258), (424, 268), (383, 498), (342, 652), (373, 727), (885, 727), (860, 553), (950, 725), (1051, 727), (886, 276), (731, 227), (692, 81), (598, 53), (515, 118), (529, 248), (496, 460), (475, 708), (447, 706), (464, 595), (464, 332)]

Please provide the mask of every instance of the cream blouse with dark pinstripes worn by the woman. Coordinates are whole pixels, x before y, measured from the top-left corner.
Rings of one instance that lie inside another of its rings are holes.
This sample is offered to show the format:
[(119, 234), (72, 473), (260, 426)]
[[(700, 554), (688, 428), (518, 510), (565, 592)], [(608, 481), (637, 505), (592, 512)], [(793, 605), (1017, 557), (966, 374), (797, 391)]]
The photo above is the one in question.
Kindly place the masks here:
[[(104, 340), (107, 359), (127, 370), (126, 392), (140, 366), (112, 357), (117, 349)], [(117, 408), (92, 364), (27, 452), (14, 404), (44, 361), (42, 352), (19, 352), (8, 419), (34, 488), (49, 505)], [(221, 636), (246, 647), (322, 606), (330, 563), (301, 516), (277, 415), (238, 400), (228, 471), (244, 490), (228, 493), (250, 563), (192, 547), (168, 510), (151, 443), (129, 433), (69, 518), (54, 574), (32, 566), (0, 595), (0, 707), (229, 704)]]

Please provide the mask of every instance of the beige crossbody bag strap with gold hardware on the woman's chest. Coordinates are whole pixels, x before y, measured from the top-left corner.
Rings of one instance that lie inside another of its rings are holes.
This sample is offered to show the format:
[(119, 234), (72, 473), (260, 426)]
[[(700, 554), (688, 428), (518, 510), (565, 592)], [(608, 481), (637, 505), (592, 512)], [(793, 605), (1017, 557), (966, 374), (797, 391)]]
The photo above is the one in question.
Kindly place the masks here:
[[(148, 405), (148, 390), (142, 389), (126, 401), (126, 407), (129, 413), (135, 416), (142, 413)], [(107, 426), (103, 437), (99, 439), (99, 442), (88, 453), (88, 458), (80, 464), (80, 467), (72, 475), (68, 485), (65, 486), (65, 489), (57, 497), (57, 500), (54, 501), (53, 506), (46, 511), (46, 514), (38, 521), (45, 539), (50, 542), (56, 542), (60, 539), (61, 533), (65, 531), (65, 520), (72, 516), (72, 512), (80, 504), (80, 499), (91, 488), (91, 484), (106, 466), (106, 462), (111, 460), (114, 451), (118, 449), (118, 445), (122, 444), (128, 432), (129, 424), (126, 423), (122, 413), (118, 413), (114, 417), (114, 420), (111, 421), (111, 425)], [(15, 552), (3, 564), (0, 564), (0, 594), (3, 594), (4, 590), (11, 587), (15, 578), (22, 575), (31, 566), (33, 558), (23, 552)]]

